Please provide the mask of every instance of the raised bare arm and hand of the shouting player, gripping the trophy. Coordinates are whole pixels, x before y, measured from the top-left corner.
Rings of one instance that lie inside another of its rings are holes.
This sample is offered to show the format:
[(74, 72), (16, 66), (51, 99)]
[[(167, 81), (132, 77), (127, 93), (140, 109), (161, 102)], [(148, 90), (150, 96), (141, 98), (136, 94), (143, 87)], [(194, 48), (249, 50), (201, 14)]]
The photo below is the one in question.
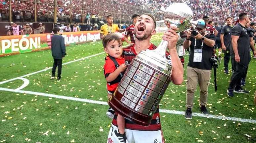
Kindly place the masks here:
[(178, 41), (178, 34), (174, 31), (176, 27), (172, 27), (172, 29), (168, 29), (168, 32), (164, 33), (163, 40), (168, 41), (168, 49), (171, 56), (172, 61), (172, 82), (176, 85), (180, 85), (183, 82), (183, 66), (181, 60), (179, 59), (176, 44)]

